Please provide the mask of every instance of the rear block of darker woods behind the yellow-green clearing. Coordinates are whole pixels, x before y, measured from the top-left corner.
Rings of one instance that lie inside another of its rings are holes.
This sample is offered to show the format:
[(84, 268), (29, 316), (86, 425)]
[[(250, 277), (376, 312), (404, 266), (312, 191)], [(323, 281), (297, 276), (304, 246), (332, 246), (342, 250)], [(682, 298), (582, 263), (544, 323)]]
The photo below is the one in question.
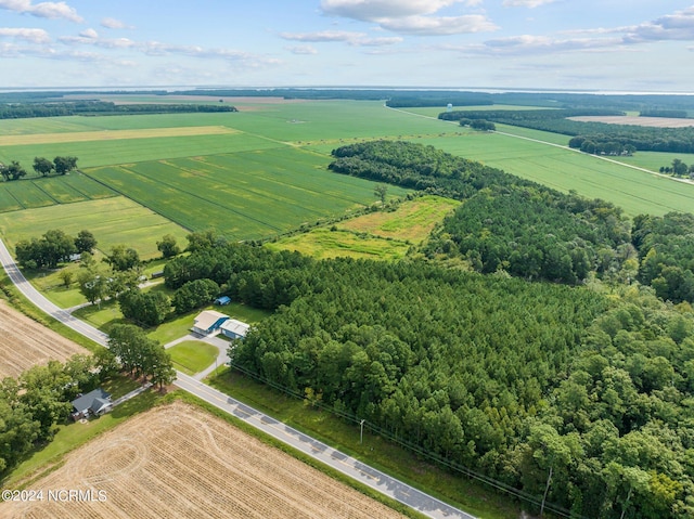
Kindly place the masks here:
[(568, 284), (591, 275), (611, 282), (638, 276), (666, 300), (694, 302), (691, 215), (638, 217), (632, 238), (632, 223), (613, 204), (560, 193), (432, 146), (374, 141), (333, 155), (333, 171), (465, 200), (425, 245), (432, 259), (463, 258), (483, 273)]

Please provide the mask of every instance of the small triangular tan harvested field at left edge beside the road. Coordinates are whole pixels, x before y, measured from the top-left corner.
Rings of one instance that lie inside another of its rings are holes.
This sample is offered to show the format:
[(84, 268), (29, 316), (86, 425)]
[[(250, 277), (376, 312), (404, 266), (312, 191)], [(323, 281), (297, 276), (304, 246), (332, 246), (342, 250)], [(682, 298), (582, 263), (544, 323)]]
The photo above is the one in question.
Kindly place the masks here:
[(64, 362), (75, 353), (89, 354), (85, 348), (0, 300), (0, 379), (16, 377), (36, 364), (49, 360)]

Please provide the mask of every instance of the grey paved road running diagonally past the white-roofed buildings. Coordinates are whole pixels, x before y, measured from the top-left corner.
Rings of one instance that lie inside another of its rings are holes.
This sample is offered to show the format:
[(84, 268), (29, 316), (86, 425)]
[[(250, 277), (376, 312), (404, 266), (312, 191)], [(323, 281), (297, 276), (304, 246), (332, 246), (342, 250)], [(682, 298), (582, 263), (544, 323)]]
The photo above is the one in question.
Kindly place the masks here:
[[(12, 282), (17, 286), (20, 291), (27, 297), (27, 299), (34, 302), (34, 304), (74, 330), (89, 337), (100, 345), (106, 346), (107, 336), (104, 333), (56, 307), (46, 299), (46, 297), (43, 297), (36, 288), (34, 288), (28, 281), (26, 281), (22, 272), (20, 272), (20, 269), (14, 263), (12, 256), (2, 241), (0, 241), (0, 261)], [(177, 372), (176, 376), (177, 379), (175, 384), (182, 390), (195, 394), (205, 402), (243, 419), (257, 429), (262, 430), (295, 449), (298, 449), (299, 451), (339, 470), (357, 481), (361, 481), (372, 489), (375, 489), (378, 492), (414, 508), (426, 517), (430, 517), (433, 519), (476, 519), (474, 516), (459, 510), (458, 508), (453, 508), (436, 497), (420, 492), (402, 481), (391, 478), (386, 473), (359, 462), (358, 459), (336, 451), (333, 447), (304, 434), (303, 432), (299, 432), (296, 429), (293, 429), (281, 421), (278, 421), (274, 418), (239, 402), (237, 400), (232, 399), (228, 394), (210, 388), (193, 377), (181, 372)]]

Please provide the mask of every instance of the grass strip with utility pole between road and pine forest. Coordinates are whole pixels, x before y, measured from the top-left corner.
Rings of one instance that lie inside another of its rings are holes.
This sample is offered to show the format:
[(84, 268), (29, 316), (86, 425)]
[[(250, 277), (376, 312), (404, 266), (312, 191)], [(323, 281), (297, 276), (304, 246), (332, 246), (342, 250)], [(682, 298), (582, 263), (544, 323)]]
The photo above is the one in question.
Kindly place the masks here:
[(218, 369), (217, 373), (215, 377), (208, 377), (206, 382), (445, 502), (486, 519), (515, 519), (519, 515), (519, 509), (510, 499), (466, 478), (440, 470), (383, 438), (369, 433), (367, 429), (363, 443), (360, 444), (357, 424), (347, 424), (329, 413), (308, 407), (300, 400), (272, 391), (229, 368)]

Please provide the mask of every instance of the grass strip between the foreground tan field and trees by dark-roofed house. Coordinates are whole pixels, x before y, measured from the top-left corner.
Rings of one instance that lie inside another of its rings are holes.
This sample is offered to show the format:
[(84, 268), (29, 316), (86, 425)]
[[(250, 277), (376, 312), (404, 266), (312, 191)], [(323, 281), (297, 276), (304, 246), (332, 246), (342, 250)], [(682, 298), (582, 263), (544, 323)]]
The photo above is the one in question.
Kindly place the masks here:
[[(104, 388), (110, 388), (106, 390), (115, 391), (113, 394), (120, 395), (137, 386), (139, 385), (134, 384), (133, 386), (131, 380), (119, 377), (104, 385)], [(115, 407), (113, 412), (99, 418), (90, 419), (86, 424), (77, 421), (59, 426), (53, 441), (43, 449), (37, 449), (27, 459), (20, 464), (2, 482), (3, 486), (11, 489), (30, 486), (33, 481), (60, 467), (65, 454), (102, 432), (114, 428), (131, 416), (153, 407), (160, 400), (162, 394), (157, 391), (145, 391)]]

